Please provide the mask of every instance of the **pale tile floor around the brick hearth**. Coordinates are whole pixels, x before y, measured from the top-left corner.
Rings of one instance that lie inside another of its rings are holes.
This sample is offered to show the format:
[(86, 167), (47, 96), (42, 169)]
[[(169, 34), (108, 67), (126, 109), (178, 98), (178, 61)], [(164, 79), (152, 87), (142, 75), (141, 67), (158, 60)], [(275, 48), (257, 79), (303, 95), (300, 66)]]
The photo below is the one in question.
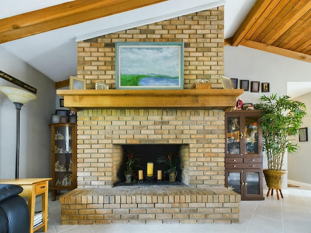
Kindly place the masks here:
[(283, 196), (280, 200), (274, 194), (265, 200), (242, 201), (240, 224), (232, 225), (61, 225), (59, 200), (50, 199), (48, 233), (311, 233), (311, 187), (289, 187)]

